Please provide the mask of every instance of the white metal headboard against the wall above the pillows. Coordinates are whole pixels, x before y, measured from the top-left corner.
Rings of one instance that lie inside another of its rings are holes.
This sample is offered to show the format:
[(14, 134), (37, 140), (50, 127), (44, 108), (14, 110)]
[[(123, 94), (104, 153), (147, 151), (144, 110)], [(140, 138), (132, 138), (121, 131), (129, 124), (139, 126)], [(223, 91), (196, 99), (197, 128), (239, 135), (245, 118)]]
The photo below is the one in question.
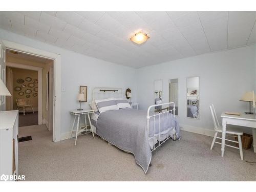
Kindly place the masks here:
[(122, 88), (95, 87), (93, 89), (93, 100), (106, 98), (122, 98)]

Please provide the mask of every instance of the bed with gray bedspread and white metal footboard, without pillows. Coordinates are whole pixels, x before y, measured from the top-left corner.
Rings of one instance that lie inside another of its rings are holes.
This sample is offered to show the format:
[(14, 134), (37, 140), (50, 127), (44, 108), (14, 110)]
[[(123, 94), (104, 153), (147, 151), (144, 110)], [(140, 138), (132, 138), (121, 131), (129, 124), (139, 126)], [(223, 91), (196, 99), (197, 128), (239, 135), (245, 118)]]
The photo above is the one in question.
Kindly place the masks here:
[[(154, 112), (156, 106), (164, 105), (165, 110)], [(172, 111), (175, 111), (173, 102), (152, 105), (147, 111), (131, 108), (97, 111), (91, 116), (92, 130), (121, 150), (132, 153), (146, 173), (152, 152), (169, 138), (180, 139), (179, 124)]]

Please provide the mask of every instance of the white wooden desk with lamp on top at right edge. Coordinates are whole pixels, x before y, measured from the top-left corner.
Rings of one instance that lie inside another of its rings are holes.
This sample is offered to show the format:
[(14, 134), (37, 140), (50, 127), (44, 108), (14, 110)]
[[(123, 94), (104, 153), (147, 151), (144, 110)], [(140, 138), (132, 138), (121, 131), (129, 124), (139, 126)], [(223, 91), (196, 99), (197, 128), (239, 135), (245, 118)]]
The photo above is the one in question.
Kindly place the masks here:
[(241, 115), (226, 115), (225, 112), (221, 114), (222, 117), (222, 141), (221, 141), (221, 156), (224, 155), (225, 137), (226, 137), (226, 126), (227, 124), (252, 127), (253, 137), (253, 152), (256, 153), (256, 119), (254, 115), (244, 114)]

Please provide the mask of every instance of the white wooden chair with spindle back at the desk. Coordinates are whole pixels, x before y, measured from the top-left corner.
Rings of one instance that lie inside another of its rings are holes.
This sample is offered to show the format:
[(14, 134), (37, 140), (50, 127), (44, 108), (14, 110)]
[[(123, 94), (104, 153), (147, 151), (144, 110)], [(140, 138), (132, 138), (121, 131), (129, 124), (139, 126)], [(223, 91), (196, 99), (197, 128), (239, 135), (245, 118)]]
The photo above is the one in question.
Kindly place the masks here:
[[(220, 126), (220, 123), (218, 121), (216, 111), (215, 111), (213, 104), (210, 105), (210, 112), (211, 112), (212, 120), (214, 121), (214, 130), (215, 130), (214, 139), (212, 140), (212, 143), (210, 146), (210, 150), (212, 150), (212, 147), (214, 147), (214, 143), (221, 144), (220, 142), (216, 142), (216, 139), (222, 139), (221, 137), (217, 137), (218, 133), (222, 134), (222, 126)], [(225, 146), (237, 148), (240, 151), (240, 156), (241, 156), (241, 159), (243, 160), (243, 146), (242, 146), (242, 140), (241, 140), (241, 135), (243, 135), (243, 132), (226, 131), (226, 134), (231, 134), (231, 135), (226, 135), (226, 136), (232, 136), (232, 137), (238, 138), (238, 141), (234, 141), (234, 140), (230, 140), (230, 139), (225, 139), (225, 140), (234, 142), (234, 143), (238, 143), (239, 147), (227, 145), (227, 144), (225, 144)]]

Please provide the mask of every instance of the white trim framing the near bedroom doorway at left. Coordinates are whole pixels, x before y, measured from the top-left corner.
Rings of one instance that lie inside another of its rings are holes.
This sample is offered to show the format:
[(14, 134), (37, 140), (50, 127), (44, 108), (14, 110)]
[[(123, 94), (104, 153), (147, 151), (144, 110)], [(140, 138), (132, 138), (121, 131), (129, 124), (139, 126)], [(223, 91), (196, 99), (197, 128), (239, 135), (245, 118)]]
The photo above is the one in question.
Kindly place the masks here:
[(3, 40), (4, 45), (8, 49), (24, 52), (30, 55), (50, 58), (54, 60), (54, 106), (53, 106), (53, 141), (61, 139), (61, 55), (35, 49), (22, 44), (16, 44), (12, 41)]

